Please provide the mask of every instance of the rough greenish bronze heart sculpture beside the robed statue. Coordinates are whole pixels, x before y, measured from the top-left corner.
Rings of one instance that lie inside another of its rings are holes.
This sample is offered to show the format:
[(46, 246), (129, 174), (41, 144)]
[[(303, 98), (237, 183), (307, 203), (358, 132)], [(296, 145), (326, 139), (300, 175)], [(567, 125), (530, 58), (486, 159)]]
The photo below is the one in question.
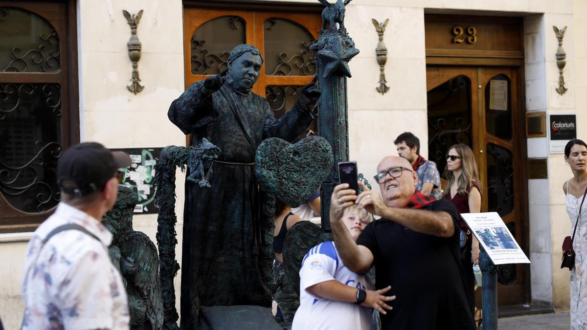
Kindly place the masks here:
[(291, 207), (302, 205), (330, 173), (332, 147), (323, 137), (291, 144), (277, 137), (263, 141), (255, 155), (261, 187)]

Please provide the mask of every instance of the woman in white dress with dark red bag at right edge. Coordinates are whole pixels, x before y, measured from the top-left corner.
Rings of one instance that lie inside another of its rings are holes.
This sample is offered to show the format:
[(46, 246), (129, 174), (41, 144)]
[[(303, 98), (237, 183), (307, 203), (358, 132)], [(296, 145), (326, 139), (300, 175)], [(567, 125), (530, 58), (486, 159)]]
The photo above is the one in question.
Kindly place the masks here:
[[(569, 141), (565, 146), (565, 161), (573, 172), (573, 177), (562, 186), (566, 194), (566, 213), (571, 218), (572, 235), (587, 187), (587, 144), (582, 140)], [(571, 329), (583, 330), (587, 329), (587, 203), (583, 203), (573, 249), (576, 256), (575, 267), (571, 271)]]

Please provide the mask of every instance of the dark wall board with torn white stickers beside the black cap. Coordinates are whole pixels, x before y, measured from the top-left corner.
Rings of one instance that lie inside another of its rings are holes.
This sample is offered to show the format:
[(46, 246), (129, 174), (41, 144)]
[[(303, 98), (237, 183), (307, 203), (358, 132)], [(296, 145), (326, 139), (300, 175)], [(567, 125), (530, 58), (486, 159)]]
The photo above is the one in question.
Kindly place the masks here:
[(155, 164), (163, 148), (127, 148), (111, 149), (124, 151), (130, 155), (132, 163), (124, 173), (122, 186), (131, 188), (137, 194), (139, 200), (134, 207), (134, 214), (159, 213), (155, 205)]

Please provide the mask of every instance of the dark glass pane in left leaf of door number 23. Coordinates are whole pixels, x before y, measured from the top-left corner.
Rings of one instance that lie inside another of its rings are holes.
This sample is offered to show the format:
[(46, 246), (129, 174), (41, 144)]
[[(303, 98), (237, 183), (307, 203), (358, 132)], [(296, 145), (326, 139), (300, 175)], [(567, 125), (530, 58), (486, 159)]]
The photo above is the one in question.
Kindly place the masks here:
[(428, 92), (428, 157), (444, 176), (446, 155), (453, 144), (473, 147), (471, 80), (456, 76)]

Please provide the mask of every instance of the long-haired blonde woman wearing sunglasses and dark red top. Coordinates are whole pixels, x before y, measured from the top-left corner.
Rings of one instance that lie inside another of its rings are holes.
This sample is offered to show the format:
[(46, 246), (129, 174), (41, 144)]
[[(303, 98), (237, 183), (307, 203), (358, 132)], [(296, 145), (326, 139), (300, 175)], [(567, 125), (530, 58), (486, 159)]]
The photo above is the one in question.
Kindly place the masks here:
[[(455, 144), (446, 155), (446, 188), (443, 197), (453, 202), (458, 214), (481, 212), (481, 187), (473, 151), (464, 144)], [(463, 265), (465, 291), (471, 311), (475, 313), (475, 275), (473, 264), (479, 264), (479, 241), (463, 220), (461, 224), (461, 264)]]

